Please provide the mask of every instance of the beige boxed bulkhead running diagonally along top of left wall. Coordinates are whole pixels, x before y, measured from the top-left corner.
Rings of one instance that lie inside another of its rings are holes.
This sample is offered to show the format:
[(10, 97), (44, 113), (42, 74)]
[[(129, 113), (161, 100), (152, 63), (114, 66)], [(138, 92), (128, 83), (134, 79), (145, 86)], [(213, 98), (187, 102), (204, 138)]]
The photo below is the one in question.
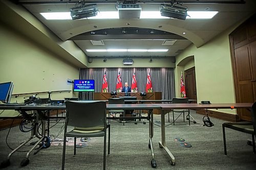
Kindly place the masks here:
[(80, 68), (88, 65), (87, 56), (73, 41), (62, 41), (22, 5), (0, 0), (0, 11), (8, 14), (0, 22), (29, 37), (47, 51), (59, 55), (63, 60)]

